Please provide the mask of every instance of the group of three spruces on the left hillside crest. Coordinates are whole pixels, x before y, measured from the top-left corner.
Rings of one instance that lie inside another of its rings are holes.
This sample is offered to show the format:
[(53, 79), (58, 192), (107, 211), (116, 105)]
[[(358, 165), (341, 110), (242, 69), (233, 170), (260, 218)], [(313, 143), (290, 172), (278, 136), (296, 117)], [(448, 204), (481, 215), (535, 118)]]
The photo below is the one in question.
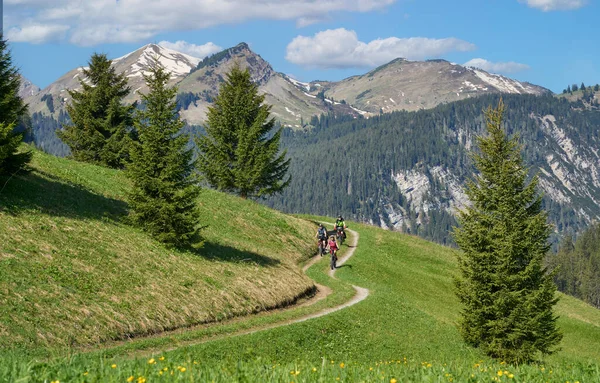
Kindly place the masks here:
[(235, 65), (209, 108), (197, 155), (177, 111), (177, 88), (158, 60), (144, 74), (148, 88), (138, 104), (124, 74), (104, 54), (94, 54), (70, 90), (71, 123), (58, 136), (79, 161), (124, 169), (131, 179), (131, 222), (175, 246), (200, 243), (197, 199), (200, 179), (242, 198), (262, 197), (289, 183), (289, 159), (279, 151), (281, 131), (271, 135), (270, 106)]

